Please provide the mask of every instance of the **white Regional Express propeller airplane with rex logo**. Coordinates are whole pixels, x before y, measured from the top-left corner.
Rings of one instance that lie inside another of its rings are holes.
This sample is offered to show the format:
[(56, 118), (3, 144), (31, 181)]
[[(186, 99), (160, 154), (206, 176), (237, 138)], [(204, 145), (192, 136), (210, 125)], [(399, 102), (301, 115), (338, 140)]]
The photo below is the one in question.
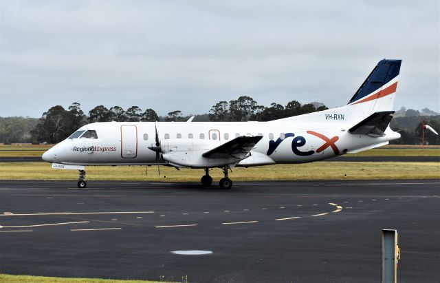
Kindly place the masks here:
[(400, 137), (389, 127), (401, 60), (382, 60), (347, 105), (269, 122), (104, 122), (80, 127), (42, 158), (55, 169), (86, 165), (168, 165), (223, 169), (230, 189), (234, 167), (309, 163), (387, 145)]

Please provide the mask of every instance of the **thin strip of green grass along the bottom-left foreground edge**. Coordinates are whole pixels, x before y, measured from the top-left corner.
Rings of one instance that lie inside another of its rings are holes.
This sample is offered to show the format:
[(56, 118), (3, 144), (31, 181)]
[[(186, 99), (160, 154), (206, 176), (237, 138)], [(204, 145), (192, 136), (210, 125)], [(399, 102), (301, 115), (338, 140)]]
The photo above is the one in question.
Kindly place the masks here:
[[(159, 281), (143, 280), (113, 280), (95, 278), (62, 278), (62, 277), (43, 277), (29, 275), (8, 275), (0, 274), (1, 283), (159, 283)], [(164, 281), (161, 281), (164, 283)], [(166, 281), (168, 282), (168, 281)]]

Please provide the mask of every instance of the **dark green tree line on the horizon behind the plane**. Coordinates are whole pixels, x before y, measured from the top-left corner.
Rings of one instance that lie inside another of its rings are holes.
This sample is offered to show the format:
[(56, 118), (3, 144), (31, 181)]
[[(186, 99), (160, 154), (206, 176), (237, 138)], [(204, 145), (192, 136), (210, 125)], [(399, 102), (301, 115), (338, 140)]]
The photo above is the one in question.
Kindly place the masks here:
[[(301, 104), (290, 101), (286, 105), (272, 103), (270, 107), (259, 105), (250, 96), (240, 96), (232, 101), (219, 101), (212, 105), (208, 114), (197, 115), (194, 121), (268, 121), (300, 114), (307, 114), (328, 109), (322, 103)], [(408, 109), (412, 110), (412, 109)], [(166, 116), (159, 116), (153, 109), (144, 111), (138, 106), (123, 109), (113, 106), (109, 109), (98, 105), (87, 114), (80, 108), (80, 103), (72, 103), (67, 109), (60, 105), (51, 107), (41, 118), (0, 117), (0, 143), (58, 143), (67, 138), (76, 129), (94, 122), (138, 122), (138, 121), (184, 121), (190, 116), (183, 116), (175, 110)], [(424, 119), (423, 119), (424, 118)], [(428, 120), (429, 119), (429, 120)], [(434, 129), (440, 129), (440, 116), (397, 117), (391, 120), (391, 128), (399, 130), (401, 138), (395, 144), (421, 144), (421, 121)], [(425, 122), (426, 121), (426, 122)], [(440, 138), (426, 132), (426, 141), (430, 145), (439, 145)]]

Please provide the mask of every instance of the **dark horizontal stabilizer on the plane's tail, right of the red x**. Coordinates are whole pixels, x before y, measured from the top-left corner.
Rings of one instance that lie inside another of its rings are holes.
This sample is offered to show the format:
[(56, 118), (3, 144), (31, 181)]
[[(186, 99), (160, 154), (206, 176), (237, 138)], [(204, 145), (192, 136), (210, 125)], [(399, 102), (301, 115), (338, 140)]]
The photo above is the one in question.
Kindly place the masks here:
[(394, 111), (375, 112), (360, 123), (349, 129), (350, 134), (384, 136), (386, 127), (390, 125)]

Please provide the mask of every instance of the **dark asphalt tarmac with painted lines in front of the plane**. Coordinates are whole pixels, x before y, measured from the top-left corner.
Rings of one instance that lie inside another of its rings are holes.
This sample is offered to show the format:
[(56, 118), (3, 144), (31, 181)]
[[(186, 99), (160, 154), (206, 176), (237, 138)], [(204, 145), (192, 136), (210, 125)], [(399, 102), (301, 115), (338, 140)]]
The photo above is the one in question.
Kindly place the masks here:
[(379, 282), (382, 229), (397, 229), (399, 282), (439, 282), (439, 196), (440, 180), (2, 181), (0, 273)]

